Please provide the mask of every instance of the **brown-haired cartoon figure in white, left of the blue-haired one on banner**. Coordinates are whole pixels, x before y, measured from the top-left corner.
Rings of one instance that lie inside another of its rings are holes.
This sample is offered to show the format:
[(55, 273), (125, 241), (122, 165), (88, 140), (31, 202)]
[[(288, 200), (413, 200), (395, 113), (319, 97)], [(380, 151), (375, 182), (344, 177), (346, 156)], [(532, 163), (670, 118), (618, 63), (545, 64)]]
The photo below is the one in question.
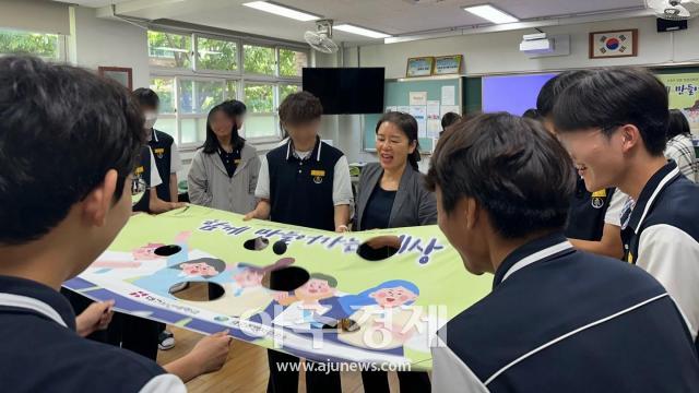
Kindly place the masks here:
[(293, 295), (275, 295), (277, 303), (286, 308), (272, 322), (293, 330), (322, 329), (324, 323), (321, 315), (330, 311), (332, 306), (322, 305), (321, 300), (335, 297), (337, 279), (333, 276), (311, 274), (310, 279), (295, 289)]

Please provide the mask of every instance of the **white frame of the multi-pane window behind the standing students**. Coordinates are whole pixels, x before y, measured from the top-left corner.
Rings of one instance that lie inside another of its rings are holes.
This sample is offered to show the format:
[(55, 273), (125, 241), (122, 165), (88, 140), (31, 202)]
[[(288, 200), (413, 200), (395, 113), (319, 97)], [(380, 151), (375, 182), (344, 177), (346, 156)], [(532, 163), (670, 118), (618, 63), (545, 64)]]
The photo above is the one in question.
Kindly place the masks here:
[[(175, 114), (159, 115), (163, 119), (173, 119), (175, 118), (175, 140), (177, 141), (179, 147), (182, 151), (191, 151), (196, 150), (203, 143), (203, 141), (194, 142), (194, 143), (181, 143), (181, 127), (180, 121), (182, 119), (192, 119), (192, 118), (205, 118), (205, 114), (182, 114), (179, 102), (179, 88), (181, 80), (201, 80), (204, 82), (220, 81), (223, 83), (223, 97), (224, 99), (242, 99), (245, 96), (245, 86), (246, 84), (251, 83), (263, 83), (271, 84), (273, 86), (273, 112), (265, 114), (252, 114), (248, 111), (248, 117), (257, 117), (257, 116), (274, 116), (274, 134), (269, 136), (257, 136), (249, 138), (248, 140), (252, 143), (273, 143), (282, 140), (282, 130), (279, 126), (279, 106), (280, 106), (280, 86), (281, 85), (297, 85), (301, 87), (301, 76), (281, 76), (280, 72), (280, 50), (293, 50), (298, 52), (305, 52), (306, 58), (308, 59), (308, 67), (310, 67), (311, 62), (311, 51), (309, 48), (304, 46), (294, 46), (285, 43), (279, 43), (273, 40), (258, 40), (258, 39), (245, 39), (236, 36), (226, 36), (218, 34), (209, 34), (209, 33), (186, 33), (181, 31), (173, 31), (167, 28), (151, 28), (150, 31), (159, 32), (159, 33), (168, 33), (168, 34), (178, 34), (178, 35), (189, 35), (191, 37), (192, 43), (192, 51), (191, 51), (191, 63), (190, 68), (167, 68), (167, 67), (156, 67), (150, 66), (150, 80), (157, 78), (173, 78), (174, 82), (174, 99), (175, 99)], [(236, 44), (236, 61), (237, 61), (237, 70), (236, 71), (225, 71), (225, 70), (201, 70), (199, 69), (199, 43), (198, 38), (209, 38), (209, 39), (218, 39), (225, 40)], [(253, 45), (260, 47), (268, 47), (274, 50), (274, 73), (273, 75), (264, 75), (264, 74), (254, 74), (248, 73), (245, 71), (245, 46)], [(150, 53), (150, 50), (149, 50)], [(149, 55), (150, 58), (150, 55)], [(234, 82), (236, 86), (235, 96), (228, 96), (227, 83)]]

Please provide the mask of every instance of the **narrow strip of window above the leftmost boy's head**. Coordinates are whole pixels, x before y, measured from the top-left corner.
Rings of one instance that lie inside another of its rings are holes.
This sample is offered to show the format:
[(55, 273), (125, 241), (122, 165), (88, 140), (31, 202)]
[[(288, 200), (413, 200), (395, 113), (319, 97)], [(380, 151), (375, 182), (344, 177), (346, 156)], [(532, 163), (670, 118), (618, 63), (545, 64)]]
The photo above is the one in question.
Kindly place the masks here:
[(13, 31), (0, 31), (0, 53), (27, 53), (47, 60), (62, 59), (62, 36)]

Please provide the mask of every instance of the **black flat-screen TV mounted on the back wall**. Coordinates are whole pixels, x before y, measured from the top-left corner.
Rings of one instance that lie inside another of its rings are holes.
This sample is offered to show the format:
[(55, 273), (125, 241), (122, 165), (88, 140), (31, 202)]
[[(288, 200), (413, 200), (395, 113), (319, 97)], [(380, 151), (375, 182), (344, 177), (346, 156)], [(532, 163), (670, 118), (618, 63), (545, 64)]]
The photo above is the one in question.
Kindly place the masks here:
[(383, 68), (305, 68), (304, 91), (325, 115), (383, 112)]

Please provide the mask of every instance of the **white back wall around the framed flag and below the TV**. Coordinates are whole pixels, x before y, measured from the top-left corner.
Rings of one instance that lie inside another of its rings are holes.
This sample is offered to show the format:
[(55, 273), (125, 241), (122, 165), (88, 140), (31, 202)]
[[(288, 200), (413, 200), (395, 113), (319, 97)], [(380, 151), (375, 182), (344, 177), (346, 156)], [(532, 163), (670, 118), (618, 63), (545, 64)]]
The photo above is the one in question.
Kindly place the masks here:
[[(639, 29), (638, 57), (605, 60), (588, 58), (588, 33), (626, 28)], [(466, 74), (699, 61), (699, 21), (689, 21), (687, 31), (661, 34), (656, 32), (654, 17), (552, 26), (542, 29), (550, 35), (570, 34), (570, 56), (530, 59), (519, 51), (519, 43), (523, 34), (533, 33), (533, 31), (513, 31), (363, 46), (359, 48), (360, 63), (357, 63), (357, 48), (348, 48), (344, 52), (344, 66), (386, 67), (387, 79), (393, 79), (404, 76), (407, 58), (418, 56), (464, 55)], [(351, 162), (375, 160), (374, 155), (362, 152), (359, 116), (341, 117), (337, 134), (339, 147), (345, 152)]]

